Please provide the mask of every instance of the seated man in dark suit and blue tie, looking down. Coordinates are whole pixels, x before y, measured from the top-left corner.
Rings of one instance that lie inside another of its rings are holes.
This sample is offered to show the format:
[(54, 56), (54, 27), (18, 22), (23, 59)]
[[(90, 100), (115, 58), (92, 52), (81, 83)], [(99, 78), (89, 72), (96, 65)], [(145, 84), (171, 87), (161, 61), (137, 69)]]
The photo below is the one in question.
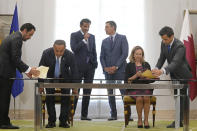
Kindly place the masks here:
[[(52, 80), (50, 82), (73, 82), (77, 79), (77, 65), (74, 59), (74, 54), (65, 49), (66, 44), (64, 40), (56, 40), (53, 47), (43, 51), (39, 66), (49, 67), (47, 78), (64, 78), (64, 80)], [(47, 94), (54, 94), (55, 88), (47, 88)], [(70, 94), (70, 89), (61, 89), (62, 94)], [(70, 106), (70, 96), (61, 97), (61, 112), (59, 127), (69, 128), (68, 115)], [(49, 115), (48, 124), (46, 128), (53, 128), (56, 126), (56, 111), (55, 111), (55, 97), (46, 97), (47, 112)]]

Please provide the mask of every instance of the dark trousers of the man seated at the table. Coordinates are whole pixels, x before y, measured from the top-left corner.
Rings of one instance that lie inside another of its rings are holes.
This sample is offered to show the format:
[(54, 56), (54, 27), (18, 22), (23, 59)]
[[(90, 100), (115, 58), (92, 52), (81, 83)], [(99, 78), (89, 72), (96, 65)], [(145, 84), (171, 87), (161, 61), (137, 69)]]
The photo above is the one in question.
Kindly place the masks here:
[[(46, 89), (47, 94), (54, 94), (54, 88)], [(61, 94), (70, 94), (70, 89), (61, 89)], [(46, 96), (46, 105), (48, 112), (48, 121), (56, 121), (56, 111), (55, 111), (55, 96)], [(70, 109), (70, 96), (61, 96), (61, 108), (59, 120), (62, 123), (65, 123), (68, 120)]]

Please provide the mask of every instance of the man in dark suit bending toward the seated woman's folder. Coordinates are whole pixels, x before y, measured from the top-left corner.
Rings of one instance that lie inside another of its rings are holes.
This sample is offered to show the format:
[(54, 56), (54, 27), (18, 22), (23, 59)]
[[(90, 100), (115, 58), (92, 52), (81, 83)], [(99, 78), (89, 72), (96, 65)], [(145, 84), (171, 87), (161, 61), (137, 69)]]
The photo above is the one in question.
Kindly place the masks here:
[[(159, 35), (162, 38), (161, 42), (161, 53), (156, 64), (156, 69), (152, 70), (155, 76), (161, 74), (170, 74), (172, 79), (190, 79), (192, 78), (191, 68), (186, 60), (186, 50), (184, 44), (174, 37), (174, 32), (171, 27), (163, 27)], [(165, 60), (168, 65), (162, 68)], [(184, 95), (187, 92), (187, 82), (181, 82), (185, 84), (184, 88), (181, 89), (180, 94)], [(176, 94), (177, 90), (175, 90)], [(183, 127), (183, 109), (184, 99), (180, 97), (180, 127)], [(167, 128), (175, 128), (175, 122), (173, 121)]]

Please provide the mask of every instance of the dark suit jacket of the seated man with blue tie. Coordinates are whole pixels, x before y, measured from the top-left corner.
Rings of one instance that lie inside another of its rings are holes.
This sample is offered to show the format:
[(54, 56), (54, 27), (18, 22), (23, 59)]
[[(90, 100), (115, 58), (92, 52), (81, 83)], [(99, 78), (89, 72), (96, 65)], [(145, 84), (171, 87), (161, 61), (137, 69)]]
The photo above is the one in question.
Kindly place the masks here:
[[(54, 78), (56, 58), (53, 48), (48, 48), (43, 51), (39, 66), (49, 67), (47, 78)], [(62, 82), (73, 82), (78, 79), (77, 65), (72, 52), (65, 50), (64, 55), (61, 58), (60, 65), (60, 78), (64, 78)]]

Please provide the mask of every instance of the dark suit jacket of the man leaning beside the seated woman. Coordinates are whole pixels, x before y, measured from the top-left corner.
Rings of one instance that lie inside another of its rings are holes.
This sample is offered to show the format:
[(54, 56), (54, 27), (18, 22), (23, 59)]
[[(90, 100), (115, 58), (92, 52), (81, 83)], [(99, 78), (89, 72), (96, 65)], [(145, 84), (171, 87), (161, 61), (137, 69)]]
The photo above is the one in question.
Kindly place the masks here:
[(166, 74), (170, 73), (171, 78), (192, 78), (191, 68), (186, 59), (185, 46), (180, 40), (174, 38), (170, 53), (168, 53), (168, 47), (161, 43), (161, 53), (156, 67), (161, 69), (166, 59), (168, 62), (168, 66), (165, 67)]

